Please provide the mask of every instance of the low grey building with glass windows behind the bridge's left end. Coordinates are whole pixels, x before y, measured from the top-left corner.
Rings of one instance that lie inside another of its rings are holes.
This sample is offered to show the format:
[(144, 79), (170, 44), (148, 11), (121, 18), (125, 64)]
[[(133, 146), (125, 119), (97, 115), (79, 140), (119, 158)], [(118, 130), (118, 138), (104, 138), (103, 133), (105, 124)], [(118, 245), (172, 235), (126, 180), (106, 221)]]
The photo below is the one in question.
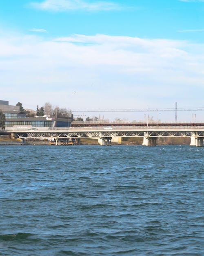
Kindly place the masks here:
[[(32, 125), (32, 127), (55, 127), (55, 118), (48, 116), (27, 117), (26, 114), (20, 113), (20, 106), (9, 105), (6, 100), (0, 100), (0, 110), (6, 117), (5, 127), (13, 125)], [(67, 127), (67, 118), (57, 118), (57, 127)], [(71, 118), (69, 118), (69, 126)]]

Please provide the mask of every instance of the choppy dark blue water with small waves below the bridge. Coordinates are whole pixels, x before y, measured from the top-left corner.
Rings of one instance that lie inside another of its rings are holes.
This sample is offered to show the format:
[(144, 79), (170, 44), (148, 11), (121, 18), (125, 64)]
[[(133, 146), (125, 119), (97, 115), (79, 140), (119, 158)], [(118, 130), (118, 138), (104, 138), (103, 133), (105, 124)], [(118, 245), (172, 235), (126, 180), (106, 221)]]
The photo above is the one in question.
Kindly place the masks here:
[(204, 148), (1, 146), (0, 255), (203, 256)]

